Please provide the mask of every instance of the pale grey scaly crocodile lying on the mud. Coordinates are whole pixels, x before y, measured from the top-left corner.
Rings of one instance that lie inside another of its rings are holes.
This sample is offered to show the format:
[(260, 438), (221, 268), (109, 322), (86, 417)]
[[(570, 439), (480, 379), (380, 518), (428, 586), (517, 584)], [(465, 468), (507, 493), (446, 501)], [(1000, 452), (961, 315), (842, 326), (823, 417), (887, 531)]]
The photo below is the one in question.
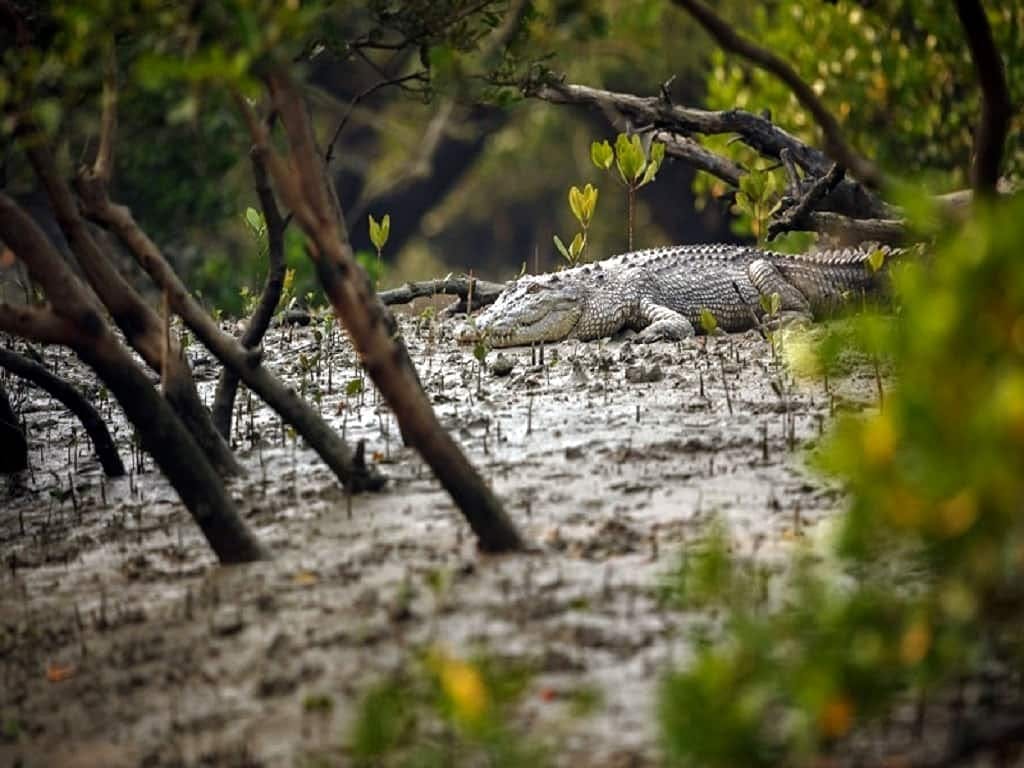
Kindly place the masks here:
[[(723, 331), (761, 325), (762, 297), (778, 294), (772, 319), (815, 319), (850, 296), (887, 293), (889, 257), (881, 269), (872, 251), (825, 250), (783, 254), (743, 245), (669, 246), (510, 283), (498, 300), (467, 324), (461, 338), (492, 347), (563, 339), (588, 341), (624, 329), (642, 342), (678, 340), (702, 327), (710, 311)], [(765, 302), (769, 303), (769, 302)]]

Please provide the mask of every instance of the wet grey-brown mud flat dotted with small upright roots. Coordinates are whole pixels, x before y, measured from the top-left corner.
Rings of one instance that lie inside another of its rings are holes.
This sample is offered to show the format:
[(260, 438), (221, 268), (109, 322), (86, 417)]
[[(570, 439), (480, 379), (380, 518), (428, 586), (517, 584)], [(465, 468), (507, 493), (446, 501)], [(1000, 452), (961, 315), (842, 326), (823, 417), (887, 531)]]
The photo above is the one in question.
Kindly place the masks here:
[[(217, 567), (101, 392), (130, 478), (104, 480), (68, 414), (9, 382), (33, 470), (0, 480), (0, 765), (345, 765), (360, 692), (431, 644), (528, 663), (526, 717), (561, 763), (656, 763), (658, 675), (685, 660), (700, 618), (666, 609), (657, 585), (715, 519), (740, 551), (781, 563), (834, 516), (842, 497), (804, 454), (834, 409), (873, 406), (873, 374), (773, 388), (752, 332), (566, 342), (544, 365), (505, 350), (513, 370), (498, 377), (452, 322), (402, 323), (442, 422), (537, 551), (476, 552), (369, 382), (346, 392), (359, 374), (330, 322), (272, 331), (265, 359), (365, 438), (389, 481), (346, 499), (243, 391), (249, 474), (231, 488), (266, 563)], [(209, 399), (218, 368), (188, 351)], [(591, 688), (597, 711), (569, 718), (565, 702)]]

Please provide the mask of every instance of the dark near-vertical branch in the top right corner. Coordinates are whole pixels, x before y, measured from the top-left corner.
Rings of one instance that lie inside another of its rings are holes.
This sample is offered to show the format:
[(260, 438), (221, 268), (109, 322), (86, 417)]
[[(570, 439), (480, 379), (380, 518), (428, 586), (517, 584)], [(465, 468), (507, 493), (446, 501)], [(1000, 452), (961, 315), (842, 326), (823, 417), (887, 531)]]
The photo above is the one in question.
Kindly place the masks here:
[(971, 183), (978, 195), (993, 196), (1012, 113), (1007, 74), (981, 0), (956, 0), (956, 14), (971, 49), (982, 96), (981, 121), (974, 136)]

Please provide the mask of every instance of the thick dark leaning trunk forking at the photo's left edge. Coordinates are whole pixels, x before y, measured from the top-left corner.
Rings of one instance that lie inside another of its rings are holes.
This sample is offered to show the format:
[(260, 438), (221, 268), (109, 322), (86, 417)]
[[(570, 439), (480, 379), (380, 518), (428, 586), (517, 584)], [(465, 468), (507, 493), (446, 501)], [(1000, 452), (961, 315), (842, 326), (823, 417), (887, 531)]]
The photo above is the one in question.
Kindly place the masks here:
[(221, 562), (266, 557), (206, 455), (114, 336), (92, 294), (65, 264), (39, 226), (3, 193), (0, 238), (29, 267), (51, 307), (0, 303), (0, 330), (65, 344), (96, 372)]

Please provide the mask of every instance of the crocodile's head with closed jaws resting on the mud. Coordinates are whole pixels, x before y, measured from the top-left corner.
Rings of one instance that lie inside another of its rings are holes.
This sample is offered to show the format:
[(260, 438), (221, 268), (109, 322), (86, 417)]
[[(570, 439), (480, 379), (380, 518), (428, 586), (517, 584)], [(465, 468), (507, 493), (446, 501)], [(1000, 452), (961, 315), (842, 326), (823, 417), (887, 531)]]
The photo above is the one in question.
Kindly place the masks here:
[(526, 275), (511, 284), (462, 334), (463, 341), (486, 336), (493, 347), (561, 341), (580, 322), (584, 287), (558, 274)]

